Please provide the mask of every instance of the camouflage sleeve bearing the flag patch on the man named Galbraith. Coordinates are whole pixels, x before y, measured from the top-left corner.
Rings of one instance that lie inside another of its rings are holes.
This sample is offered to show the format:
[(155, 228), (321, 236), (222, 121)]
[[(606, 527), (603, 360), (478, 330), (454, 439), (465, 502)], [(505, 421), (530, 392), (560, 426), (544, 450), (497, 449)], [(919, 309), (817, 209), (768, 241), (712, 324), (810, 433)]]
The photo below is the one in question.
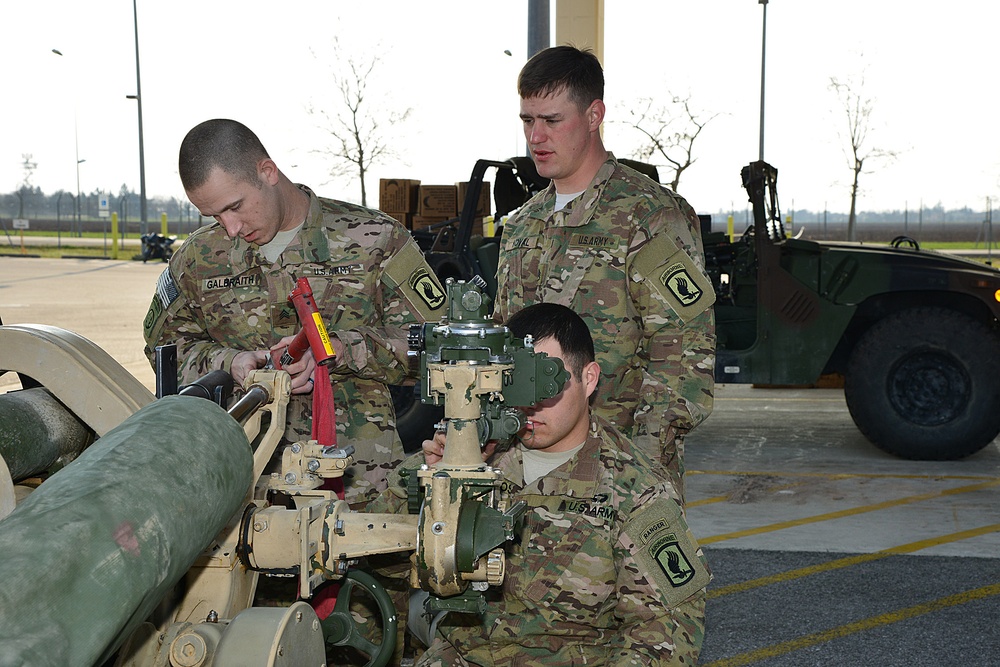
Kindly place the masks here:
[(239, 350), (221, 345), (208, 335), (204, 316), (175, 279), (173, 267), (171, 262), (157, 279), (156, 292), (143, 320), (146, 358), (156, 370), (156, 347), (176, 344), (177, 376), (182, 384), (194, 382), (212, 370), (229, 371)]

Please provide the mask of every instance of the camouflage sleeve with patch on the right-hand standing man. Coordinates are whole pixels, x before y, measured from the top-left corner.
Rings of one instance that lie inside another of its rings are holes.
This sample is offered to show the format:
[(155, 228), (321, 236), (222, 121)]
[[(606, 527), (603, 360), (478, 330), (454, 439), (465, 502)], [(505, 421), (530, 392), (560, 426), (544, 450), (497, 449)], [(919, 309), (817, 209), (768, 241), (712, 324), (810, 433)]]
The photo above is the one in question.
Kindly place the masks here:
[(630, 258), (646, 364), (634, 435), (672, 468), (675, 438), (711, 413), (715, 389), (715, 292), (693, 229), (697, 216), (685, 209), (658, 212), (649, 240)]

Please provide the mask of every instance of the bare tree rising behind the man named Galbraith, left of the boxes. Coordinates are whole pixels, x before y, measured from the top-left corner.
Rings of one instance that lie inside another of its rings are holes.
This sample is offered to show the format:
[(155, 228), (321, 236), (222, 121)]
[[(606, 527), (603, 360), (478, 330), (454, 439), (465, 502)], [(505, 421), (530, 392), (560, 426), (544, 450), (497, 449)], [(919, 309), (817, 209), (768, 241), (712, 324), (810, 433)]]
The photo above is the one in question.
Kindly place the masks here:
[(368, 170), (395, 157), (390, 140), (392, 131), (398, 129), (413, 109), (392, 110), (369, 90), (369, 83), (374, 80), (372, 75), (382, 63), (378, 56), (345, 53), (339, 41), (334, 39), (333, 62), (341, 65), (333, 72), (336, 104), (330, 111), (326, 107), (311, 106), (309, 109), (310, 114), (323, 118), (323, 129), (333, 136), (333, 142), (329, 148), (315, 152), (334, 158), (330, 167), (333, 178), (357, 175), (361, 182), (361, 205), (367, 206), (365, 177)]

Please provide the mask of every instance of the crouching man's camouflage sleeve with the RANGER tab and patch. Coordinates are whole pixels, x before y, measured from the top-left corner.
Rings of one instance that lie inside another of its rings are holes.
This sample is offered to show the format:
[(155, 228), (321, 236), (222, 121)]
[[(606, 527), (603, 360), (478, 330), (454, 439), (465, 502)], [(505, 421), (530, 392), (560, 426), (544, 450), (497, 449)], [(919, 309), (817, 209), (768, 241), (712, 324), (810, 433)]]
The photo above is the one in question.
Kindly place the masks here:
[[(620, 632), (608, 665), (697, 664), (705, 634), (704, 554), (665, 485), (625, 519), (616, 548)], [(669, 660), (666, 658), (669, 657)]]

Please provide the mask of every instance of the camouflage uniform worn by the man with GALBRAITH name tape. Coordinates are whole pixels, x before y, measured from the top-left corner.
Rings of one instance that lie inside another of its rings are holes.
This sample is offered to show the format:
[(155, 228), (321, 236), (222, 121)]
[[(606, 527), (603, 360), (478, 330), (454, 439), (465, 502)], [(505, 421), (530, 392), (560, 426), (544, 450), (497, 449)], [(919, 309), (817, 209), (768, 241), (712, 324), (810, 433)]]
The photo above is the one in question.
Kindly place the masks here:
[[(347, 500), (384, 488), (403, 458), (387, 384), (412, 375), (406, 328), (437, 320), (445, 294), (416, 242), (388, 216), (320, 199), (274, 264), (242, 239), (212, 224), (196, 231), (160, 276), (146, 315), (146, 355), (177, 344), (179, 381), (228, 371), (243, 350), (266, 349), (295, 334), (298, 316), (288, 295), (309, 279), (332, 338), (346, 350), (330, 365), (338, 444), (354, 445), (356, 464), (344, 478)], [(312, 394), (292, 396), (285, 439), (309, 439)]]

